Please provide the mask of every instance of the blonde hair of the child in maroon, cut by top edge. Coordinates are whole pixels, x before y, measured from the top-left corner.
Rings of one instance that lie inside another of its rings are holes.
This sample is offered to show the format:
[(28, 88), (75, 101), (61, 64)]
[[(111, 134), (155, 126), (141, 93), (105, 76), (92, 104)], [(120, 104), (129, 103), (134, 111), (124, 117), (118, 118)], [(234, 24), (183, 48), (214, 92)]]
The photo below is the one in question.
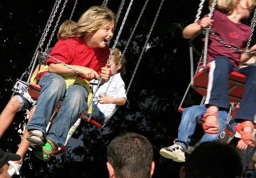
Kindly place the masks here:
[[(209, 9), (212, 7), (212, 2), (214, 0), (209, 1)], [(240, 2), (240, 0), (217, 0), (215, 10), (219, 10), (223, 13), (232, 13), (235, 9), (237, 4)], [(256, 6), (255, 0), (247, 0), (246, 5), (248, 8), (252, 8)]]

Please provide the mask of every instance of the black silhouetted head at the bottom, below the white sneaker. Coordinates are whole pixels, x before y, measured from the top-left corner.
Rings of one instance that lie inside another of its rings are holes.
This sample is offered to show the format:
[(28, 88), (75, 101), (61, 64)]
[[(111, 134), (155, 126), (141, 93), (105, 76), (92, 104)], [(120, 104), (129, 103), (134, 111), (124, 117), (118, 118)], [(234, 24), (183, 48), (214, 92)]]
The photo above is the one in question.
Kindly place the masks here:
[(203, 142), (186, 158), (186, 178), (240, 178), (242, 173), (243, 164), (234, 145)]

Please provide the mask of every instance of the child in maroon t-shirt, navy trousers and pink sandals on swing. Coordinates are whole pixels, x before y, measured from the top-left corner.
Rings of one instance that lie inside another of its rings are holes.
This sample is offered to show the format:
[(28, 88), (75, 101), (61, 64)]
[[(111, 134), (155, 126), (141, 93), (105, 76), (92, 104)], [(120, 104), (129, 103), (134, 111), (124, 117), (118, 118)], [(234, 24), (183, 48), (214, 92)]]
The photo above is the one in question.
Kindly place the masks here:
[[(212, 7), (210, 0), (209, 7)], [(241, 20), (249, 18), (250, 13), (256, 6), (255, 0), (218, 0), (212, 18), (207, 14), (204, 18), (184, 28), (184, 38), (192, 38), (203, 28), (211, 28), (226, 44), (237, 49), (245, 49), (250, 37), (251, 29)], [(249, 51), (256, 51), (253, 45)], [(254, 114), (256, 112), (256, 66), (248, 66), (238, 69), (253, 53), (241, 53), (238, 50), (226, 47), (213, 35), (209, 35), (209, 46), (207, 51), (207, 63), (211, 65), (209, 71), (209, 82), (205, 104), (207, 111), (203, 124), (205, 133), (219, 133), (217, 120), (218, 111), (228, 109), (228, 77), (232, 71), (246, 75), (246, 83), (243, 99), (236, 113), (236, 121), (240, 123), (234, 129), (241, 134), (242, 139), (250, 147), (254, 147), (255, 138), (252, 134), (254, 128)], [(201, 63), (202, 67), (202, 63)]]

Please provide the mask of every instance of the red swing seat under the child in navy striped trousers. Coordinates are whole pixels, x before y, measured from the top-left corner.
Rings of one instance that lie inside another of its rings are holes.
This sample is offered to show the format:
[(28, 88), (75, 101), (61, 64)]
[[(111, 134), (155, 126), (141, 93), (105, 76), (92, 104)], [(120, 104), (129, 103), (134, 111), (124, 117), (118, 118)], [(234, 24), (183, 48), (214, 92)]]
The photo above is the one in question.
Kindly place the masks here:
[[(200, 95), (206, 96), (208, 85), (208, 72), (210, 64), (206, 65), (206, 70), (199, 71), (194, 77), (194, 85), (192, 88)], [(229, 75), (228, 92), (230, 103), (241, 103), (244, 93), (244, 83), (246, 76), (238, 72), (231, 72)]]

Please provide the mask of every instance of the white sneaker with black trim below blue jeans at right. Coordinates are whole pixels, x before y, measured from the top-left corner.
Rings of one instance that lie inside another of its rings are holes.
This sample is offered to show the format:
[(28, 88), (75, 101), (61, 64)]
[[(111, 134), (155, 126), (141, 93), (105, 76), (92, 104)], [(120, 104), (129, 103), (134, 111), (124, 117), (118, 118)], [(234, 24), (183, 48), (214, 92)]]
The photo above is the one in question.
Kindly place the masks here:
[(176, 162), (185, 162), (186, 159), (185, 151), (182, 146), (180, 146), (179, 142), (176, 142), (174, 145), (168, 146), (167, 148), (163, 147), (160, 150), (160, 154), (165, 158), (172, 159)]

